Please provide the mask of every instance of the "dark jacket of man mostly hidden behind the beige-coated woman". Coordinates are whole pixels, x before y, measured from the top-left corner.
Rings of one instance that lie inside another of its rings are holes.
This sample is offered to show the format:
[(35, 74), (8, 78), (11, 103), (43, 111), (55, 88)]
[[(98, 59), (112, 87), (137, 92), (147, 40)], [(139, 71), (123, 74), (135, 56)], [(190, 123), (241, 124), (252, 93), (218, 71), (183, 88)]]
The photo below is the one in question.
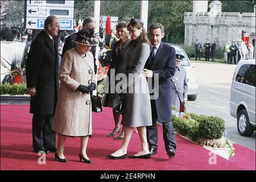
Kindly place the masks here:
[[(76, 47), (76, 43), (74, 43), (72, 40), (74, 40), (76, 38), (76, 34), (71, 34), (67, 37), (67, 39), (65, 40), (64, 46), (63, 46), (63, 50), (62, 50), (62, 57), (64, 56), (64, 53), (72, 48)], [(97, 65), (96, 65), (96, 46), (92, 46), (92, 48), (90, 49), (90, 52), (92, 52), (93, 57), (94, 57), (94, 73), (97, 73)]]

